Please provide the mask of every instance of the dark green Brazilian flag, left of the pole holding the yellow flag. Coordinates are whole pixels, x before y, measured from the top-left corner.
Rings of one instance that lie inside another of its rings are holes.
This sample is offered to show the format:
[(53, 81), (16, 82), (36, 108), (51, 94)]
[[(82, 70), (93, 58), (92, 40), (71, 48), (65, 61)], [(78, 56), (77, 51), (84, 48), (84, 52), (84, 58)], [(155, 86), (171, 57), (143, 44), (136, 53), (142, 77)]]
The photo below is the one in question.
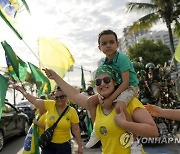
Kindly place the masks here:
[(1, 42), (1, 45), (5, 51), (9, 74), (15, 81), (24, 81), (27, 75), (27, 64), (15, 54), (6, 41)]

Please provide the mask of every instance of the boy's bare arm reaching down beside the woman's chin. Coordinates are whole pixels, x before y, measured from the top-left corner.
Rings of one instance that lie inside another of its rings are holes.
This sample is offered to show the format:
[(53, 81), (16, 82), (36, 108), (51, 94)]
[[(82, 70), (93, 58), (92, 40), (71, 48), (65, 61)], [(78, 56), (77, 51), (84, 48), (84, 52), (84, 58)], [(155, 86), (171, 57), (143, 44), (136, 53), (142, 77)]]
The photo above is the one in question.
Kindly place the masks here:
[(119, 87), (111, 94), (111, 96), (104, 100), (104, 107), (108, 108), (112, 105), (113, 101), (129, 87), (129, 71), (125, 71), (122, 73), (122, 83)]

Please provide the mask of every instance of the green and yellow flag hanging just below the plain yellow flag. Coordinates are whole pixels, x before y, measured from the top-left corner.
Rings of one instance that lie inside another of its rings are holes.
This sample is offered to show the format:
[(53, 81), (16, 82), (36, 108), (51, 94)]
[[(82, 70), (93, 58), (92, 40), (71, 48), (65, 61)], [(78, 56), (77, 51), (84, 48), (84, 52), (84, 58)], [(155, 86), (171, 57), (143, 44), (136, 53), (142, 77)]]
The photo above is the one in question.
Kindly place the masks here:
[(28, 62), (29, 67), (31, 69), (31, 73), (36, 81), (36, 86), (38, 87), (38, 96), (48, 96), (51, 92), (51, 85), (49, 79), (42, 73), (42, 71), (33, 65), (32, 63)]

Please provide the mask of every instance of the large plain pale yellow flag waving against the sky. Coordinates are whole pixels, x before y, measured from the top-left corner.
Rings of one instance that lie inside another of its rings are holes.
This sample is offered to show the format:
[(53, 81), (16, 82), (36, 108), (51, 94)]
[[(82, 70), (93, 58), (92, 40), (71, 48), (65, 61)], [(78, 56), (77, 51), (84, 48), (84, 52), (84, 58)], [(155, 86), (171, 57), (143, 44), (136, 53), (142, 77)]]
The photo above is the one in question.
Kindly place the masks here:
[[(39, 38), (39, 59), (41, 68), (52, 69), (62, 78), (74, 64), (69, 49), (60, 41), (51, 38)], [(54, 87), (52, 81), (51, 87)]]

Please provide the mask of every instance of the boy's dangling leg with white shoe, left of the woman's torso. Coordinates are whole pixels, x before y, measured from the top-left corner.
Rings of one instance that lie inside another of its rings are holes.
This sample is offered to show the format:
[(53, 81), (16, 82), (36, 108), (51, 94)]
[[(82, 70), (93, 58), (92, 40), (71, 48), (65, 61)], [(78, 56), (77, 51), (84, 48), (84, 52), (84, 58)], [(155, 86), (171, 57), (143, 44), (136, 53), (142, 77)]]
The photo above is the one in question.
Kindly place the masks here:
[[(91, 120), (94, 125), (95, 117), (96, 117), (96, 106), (99, 103), (98, 95), (93, 95), (88, 99), (88, 106), (89, 106), (89, 112), (91, 115)], [(99, 141), (99, 138), (96, 136), (94, 129), (93, 132), (91, 133), (91, 136), (89, 138), (89, 141), (85, 145), (86, 148), (91, 148), (93, 147), (97, 142)]]

